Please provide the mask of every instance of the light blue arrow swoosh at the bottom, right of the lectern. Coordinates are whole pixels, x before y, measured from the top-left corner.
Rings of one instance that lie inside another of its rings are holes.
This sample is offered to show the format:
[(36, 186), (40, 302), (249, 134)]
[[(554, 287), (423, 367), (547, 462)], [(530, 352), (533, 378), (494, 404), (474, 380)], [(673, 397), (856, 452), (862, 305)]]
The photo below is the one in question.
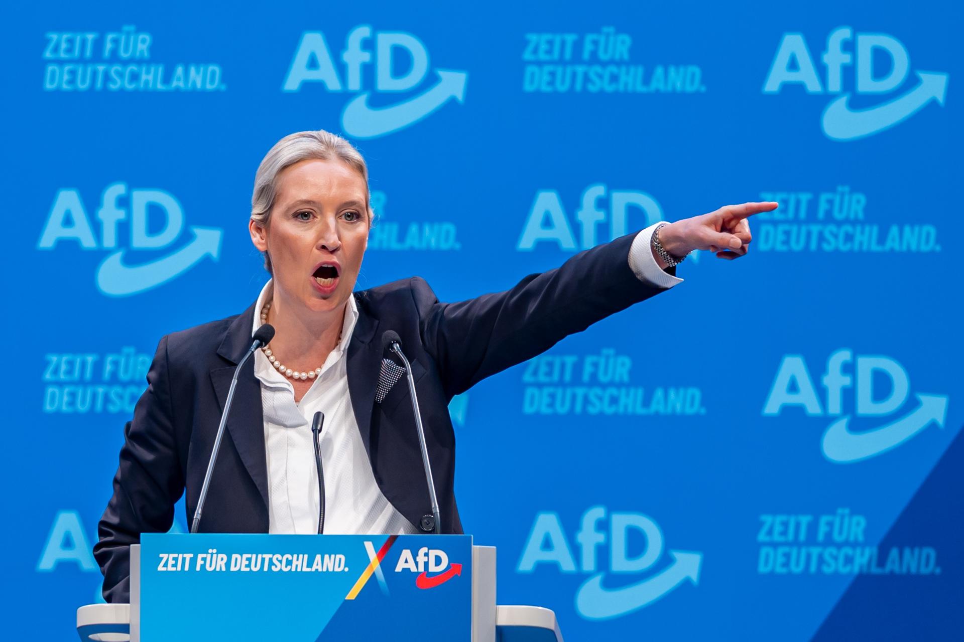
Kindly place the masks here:
[(699, 583), (703, 553), (670, 551), (676, 560), (652, 578), (620, 588), (605, 588), (603, 573), (583, 582), (576, 593), (576, 609), (590, 620), (608, 620), (654, 603), (684, 580)]

